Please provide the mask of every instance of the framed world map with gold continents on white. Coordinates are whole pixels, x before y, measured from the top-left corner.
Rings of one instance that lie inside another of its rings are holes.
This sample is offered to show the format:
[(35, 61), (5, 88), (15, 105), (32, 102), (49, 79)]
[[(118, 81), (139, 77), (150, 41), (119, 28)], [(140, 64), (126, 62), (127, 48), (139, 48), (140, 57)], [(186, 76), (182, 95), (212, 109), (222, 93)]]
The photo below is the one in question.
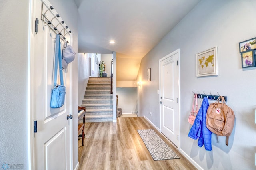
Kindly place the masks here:
[(217, 47), (196, 54), (196, 77), (218, 75)]

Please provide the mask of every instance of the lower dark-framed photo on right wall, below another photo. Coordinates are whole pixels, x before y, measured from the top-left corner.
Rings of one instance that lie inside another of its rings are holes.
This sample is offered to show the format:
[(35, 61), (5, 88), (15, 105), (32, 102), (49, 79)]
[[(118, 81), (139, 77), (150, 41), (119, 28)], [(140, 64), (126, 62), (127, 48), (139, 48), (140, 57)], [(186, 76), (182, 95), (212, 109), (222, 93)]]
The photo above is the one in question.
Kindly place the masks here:
[(254, 50), (247, 50), (241, 53), (242, 68), (255, 67)]

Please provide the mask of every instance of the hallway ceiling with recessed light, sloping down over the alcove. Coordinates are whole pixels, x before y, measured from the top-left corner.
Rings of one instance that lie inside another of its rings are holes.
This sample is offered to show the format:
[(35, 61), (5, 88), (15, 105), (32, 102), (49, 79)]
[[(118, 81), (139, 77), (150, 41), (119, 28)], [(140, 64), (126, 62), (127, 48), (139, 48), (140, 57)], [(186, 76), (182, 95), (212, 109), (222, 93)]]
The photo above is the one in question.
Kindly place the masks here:
[[(141, 59), (200, 0), (74, 0), (78, 53), (116, 51), (117, 81), (135, 81)], [(110, 40), (116, 43), (110, 44)]]

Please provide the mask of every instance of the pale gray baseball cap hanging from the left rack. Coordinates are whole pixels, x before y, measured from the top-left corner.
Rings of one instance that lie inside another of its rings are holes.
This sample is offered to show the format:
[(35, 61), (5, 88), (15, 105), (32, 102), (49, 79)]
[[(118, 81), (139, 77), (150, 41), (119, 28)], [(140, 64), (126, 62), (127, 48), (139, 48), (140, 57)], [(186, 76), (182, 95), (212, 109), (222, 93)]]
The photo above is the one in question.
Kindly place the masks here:
[(63, 48), (62, 51), (62, 68), (67, 69), (68, 64), (71, 63), (75, 57), (76, 57), (76, 53), (74, 51), (74, 49), (72, 48), (71, 45), (67, 45), (67, 43), (65, 42), (65, 46)]

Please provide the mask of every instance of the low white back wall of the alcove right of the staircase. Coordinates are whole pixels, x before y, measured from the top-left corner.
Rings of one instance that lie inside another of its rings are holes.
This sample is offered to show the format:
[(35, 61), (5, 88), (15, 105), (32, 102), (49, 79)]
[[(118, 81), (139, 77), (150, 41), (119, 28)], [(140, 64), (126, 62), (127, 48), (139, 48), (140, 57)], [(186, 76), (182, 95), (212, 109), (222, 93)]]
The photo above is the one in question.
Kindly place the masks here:
[(132, 113), (137, 111), (137, 87), (116, 88), (118, 95), (118, 108), (122, 108), (122, 113)]

